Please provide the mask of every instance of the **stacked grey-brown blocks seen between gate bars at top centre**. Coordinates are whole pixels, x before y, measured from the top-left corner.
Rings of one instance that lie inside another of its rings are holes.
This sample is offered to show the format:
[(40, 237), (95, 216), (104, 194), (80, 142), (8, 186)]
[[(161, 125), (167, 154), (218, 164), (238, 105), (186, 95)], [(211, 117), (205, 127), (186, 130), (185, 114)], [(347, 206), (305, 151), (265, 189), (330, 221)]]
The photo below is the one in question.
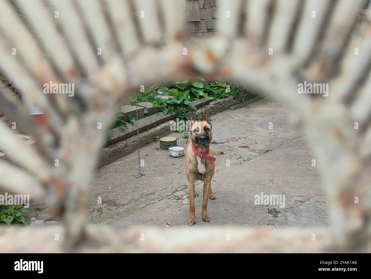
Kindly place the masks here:
[(185, 0), (187, 20), (193, 36), (209, 36), (216, 32), (217, 0)]

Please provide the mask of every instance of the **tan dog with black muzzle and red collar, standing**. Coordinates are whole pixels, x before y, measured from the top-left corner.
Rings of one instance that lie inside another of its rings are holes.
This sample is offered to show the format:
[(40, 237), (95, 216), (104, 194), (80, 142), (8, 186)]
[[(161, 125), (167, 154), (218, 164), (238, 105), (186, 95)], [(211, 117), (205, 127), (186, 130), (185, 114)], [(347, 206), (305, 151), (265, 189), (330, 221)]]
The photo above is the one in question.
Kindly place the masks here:
[(211, 147), (210, 142), (213, 139), (212, 125), (206, 110), (203, 121), (196, 121), (193, 112), (190, 111), (188, 124), (191, 134), (188, 137), (188, 147), (185, 152), (185, 173), (188, 179), (190, 211), (188, 225), (192, 226), (196, 223), (194, 197), (198, 197), (194, 190), (194, 183), (196, 180), (204, 181), (201, 215), (204, 222), (210, 222), (209, 215), (207, 215), (207, 200), (208, 198), (215, 200), (211, 191), (211, 178), (213, 178), (215, 171), (215, 158), (213, 156), (223, 155), (224, 152)]

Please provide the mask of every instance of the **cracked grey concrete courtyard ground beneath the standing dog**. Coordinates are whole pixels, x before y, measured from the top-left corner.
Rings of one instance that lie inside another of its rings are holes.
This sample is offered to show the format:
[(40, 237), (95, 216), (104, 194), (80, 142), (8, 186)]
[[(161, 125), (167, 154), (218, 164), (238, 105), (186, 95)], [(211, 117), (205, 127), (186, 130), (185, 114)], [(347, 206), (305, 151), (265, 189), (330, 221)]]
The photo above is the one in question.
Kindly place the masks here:
[[(209, 200), (210, 223), (201, 219), (203, 183), (196, 183), (196, 227), (215, 225), (320, 226), (329, 224), (328, 197), (321, 188), (313, 151), (289, 121), (286, 109), (263, 98), (234, 111), (213, 115), (217, 157)], [(270, 122), (273, 129), (269, 129)], [(183, 133), (170, 134), (186, 147)], [(89, 197), (89, 223), (112, 227), (132, 225), (188, 226), (189, 199), (185, 156), (173, 158), (154, 141), (137, 152), (96, 171)], [(319, 162), (316, 162), (317, 165)], [(285, 195), (285, 207), (255, 205), (255, 195)]]

